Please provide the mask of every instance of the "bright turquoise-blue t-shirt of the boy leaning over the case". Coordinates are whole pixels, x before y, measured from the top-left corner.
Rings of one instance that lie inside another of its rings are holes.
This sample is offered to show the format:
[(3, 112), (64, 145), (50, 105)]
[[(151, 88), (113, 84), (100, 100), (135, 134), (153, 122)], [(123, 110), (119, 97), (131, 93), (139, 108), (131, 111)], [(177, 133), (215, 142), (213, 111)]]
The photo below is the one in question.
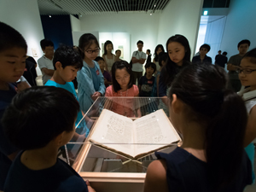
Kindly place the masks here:
[[(78, 96), (77, 96), (76, 90), (74, 89), (73, 82), (66, 82), (66, 84), (58, 84), (58, 83), (56, 83), (55, 81), (48, 80), (48, 81), (46, 82), (46, 84), (44, 84), (44, 85), (45, 85), (45, 86), (59, 87), (59, 88), (68, 90), (69, 92), (73, 93), (73, 96), (75, 96), (76, 99), (77, 99), (78, 102), (79, 102), (79, 98), (78, 98)], [(77, 117), (77, 120), (76, 120), (76, 123), (75, 123), (76, 126), (79, 124), (79, 122), (80, 122), (81, 119), (83, 119), (83, 114), (82, 114), (81, 110), (79, 110), (78, 117)], [(79, 124), (79, 126), (76, 128), (76, 132), (79, 133), (80, 135), (83, 135), (83, 134), (85, 133), (85, 136), (86, 136), (86, 137), (88, 136), (90, 130), (89, 130), (88, 127), (86, 126), (86, 123), (85, 123), (84, 119), (81, 121), (81, 123)]]

